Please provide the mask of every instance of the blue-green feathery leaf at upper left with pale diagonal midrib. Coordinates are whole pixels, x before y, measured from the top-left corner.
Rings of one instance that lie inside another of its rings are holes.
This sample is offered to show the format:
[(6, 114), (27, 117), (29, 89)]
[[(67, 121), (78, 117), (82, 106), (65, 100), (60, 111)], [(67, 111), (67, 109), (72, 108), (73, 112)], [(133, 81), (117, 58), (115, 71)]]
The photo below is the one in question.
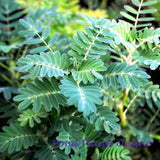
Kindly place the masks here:
[(19, 33), (28, 37), (24, 44), (41, 44), (31, 49), (31, 54), (47, 51), (54, 54), (54, 51), (66, 51), (67, 47), (62, 47), (66, 44), (66, 40), (63, 37), (60, 37), (58, 33), (55, 33), (50, 40), (48, 40), (50, 27), (46, 26), (45, 28), (42, 28), (43, 23), (41, 21), (37, 20), (34, 22), (33, 19), (29, 17), (26, 18), (26, 20), (20, 19), (20, 23), (26, 28), (26, 30), (22, 30)]

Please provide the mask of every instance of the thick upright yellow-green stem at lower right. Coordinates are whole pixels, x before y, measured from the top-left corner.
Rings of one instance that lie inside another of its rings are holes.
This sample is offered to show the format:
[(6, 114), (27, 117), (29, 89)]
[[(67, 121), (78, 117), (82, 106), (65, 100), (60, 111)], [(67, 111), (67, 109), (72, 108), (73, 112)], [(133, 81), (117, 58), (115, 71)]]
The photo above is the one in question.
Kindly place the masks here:
[(127, 100), (128, 92), (129, 92), (129, 89), (126, 88), (125, 92), (124, 92), (124, 95), (123, 95), (123, 99), (122, 99), (122, 103), (121, 103), (121, 106), (120, 106), (120, 110), (119, 110), (119, 116), (120, 116), (121, 124), (122, 124), (123, 128), (125, 128), (127, 126), (126, 116), (125, 116), (123, 110), (124, 110), (124, 105), (125, 105), (126, 100)]

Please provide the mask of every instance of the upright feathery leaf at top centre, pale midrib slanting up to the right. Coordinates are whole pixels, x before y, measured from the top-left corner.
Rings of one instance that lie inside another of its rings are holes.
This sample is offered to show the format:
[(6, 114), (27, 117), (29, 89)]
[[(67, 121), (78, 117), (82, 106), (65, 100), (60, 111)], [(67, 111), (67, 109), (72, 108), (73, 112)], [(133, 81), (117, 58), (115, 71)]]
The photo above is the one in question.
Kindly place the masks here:
[(109, 29), (116, 25), (102, 17), (97, 20), (85, 14), (81, 16), (92, 26), (85, 27), (85, 32), (80, 30), (77, 32), (77, 36), (73, 37), (73, 43), (70, 45), (72, 50), (69, 54), (77, 59), (98, 58), (105, 55), (106, 50), (114, 44), (113, 38), (116, 37)]

